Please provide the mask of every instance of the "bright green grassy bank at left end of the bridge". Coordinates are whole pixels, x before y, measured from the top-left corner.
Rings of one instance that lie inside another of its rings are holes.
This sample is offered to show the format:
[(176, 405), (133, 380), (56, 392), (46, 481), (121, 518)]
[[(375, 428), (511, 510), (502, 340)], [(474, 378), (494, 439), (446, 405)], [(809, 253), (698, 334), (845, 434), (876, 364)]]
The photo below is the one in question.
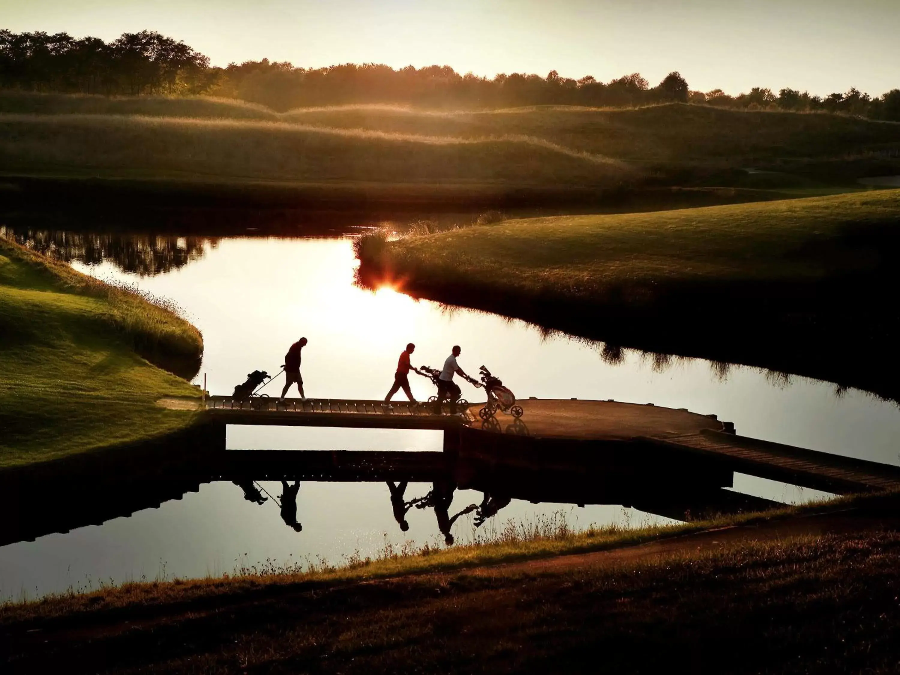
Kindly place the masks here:
[(198, 392), (163, 367), (193, 376), (201, 354), (166, 307), (0, 239), (0, 468), (183, 428), (155, 402)]

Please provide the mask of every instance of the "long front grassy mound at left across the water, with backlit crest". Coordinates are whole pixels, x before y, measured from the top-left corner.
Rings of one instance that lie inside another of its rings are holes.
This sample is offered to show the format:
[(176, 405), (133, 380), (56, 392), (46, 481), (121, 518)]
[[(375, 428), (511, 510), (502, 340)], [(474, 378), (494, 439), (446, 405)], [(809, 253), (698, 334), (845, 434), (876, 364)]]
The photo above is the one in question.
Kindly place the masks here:
[(6, 173), (307, 183), (617, 184), (630, 171), (516, 134), (460, 139), (285, 122), (0, 115)]

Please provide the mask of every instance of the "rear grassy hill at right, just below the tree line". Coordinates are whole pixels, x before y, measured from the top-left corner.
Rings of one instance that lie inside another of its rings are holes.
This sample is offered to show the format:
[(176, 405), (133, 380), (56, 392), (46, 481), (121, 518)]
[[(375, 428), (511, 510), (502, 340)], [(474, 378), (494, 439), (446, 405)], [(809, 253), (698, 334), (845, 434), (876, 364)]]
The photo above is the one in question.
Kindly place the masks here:
[(517, 133), (633, 162), (766, 162), (833, 157), (900, 144), (900, 124), (830, 114), (743, 112), (671, 103), (635, 109), (536, 106), (490, 112), (418, 112), (360, 106), (285, 112), (318, 126), (365, 128), (460, 138)]

